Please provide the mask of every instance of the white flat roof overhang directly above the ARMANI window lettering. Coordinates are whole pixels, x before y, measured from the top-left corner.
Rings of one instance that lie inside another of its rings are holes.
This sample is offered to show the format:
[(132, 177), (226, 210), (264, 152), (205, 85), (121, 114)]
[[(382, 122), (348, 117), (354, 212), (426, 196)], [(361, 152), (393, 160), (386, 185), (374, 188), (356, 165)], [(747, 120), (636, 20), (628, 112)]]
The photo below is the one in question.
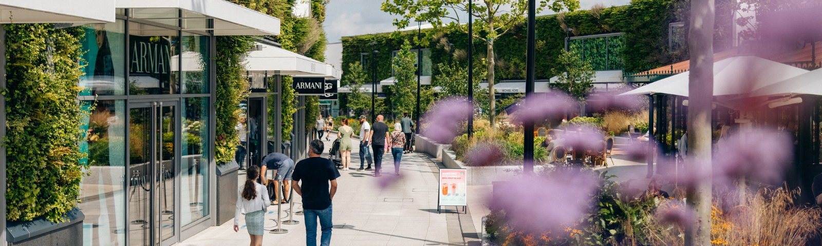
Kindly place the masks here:
[(203, 15), (200, 18), (213, 18), (213, 30), (217, 36), (279, 35), (279, 19), (224, 0), (116, 1), (118, 8), (178, 8)]

